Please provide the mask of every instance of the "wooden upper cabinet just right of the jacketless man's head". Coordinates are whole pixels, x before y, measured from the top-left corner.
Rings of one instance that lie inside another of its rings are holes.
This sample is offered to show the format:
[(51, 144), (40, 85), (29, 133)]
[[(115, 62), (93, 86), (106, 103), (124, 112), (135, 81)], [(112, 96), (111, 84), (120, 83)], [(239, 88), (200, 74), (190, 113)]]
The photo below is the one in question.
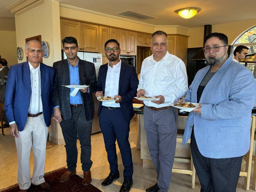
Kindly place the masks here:
[(188, 36), (167, 35), (167, 46), (168, 52), (179, 57), (187, 66)]

